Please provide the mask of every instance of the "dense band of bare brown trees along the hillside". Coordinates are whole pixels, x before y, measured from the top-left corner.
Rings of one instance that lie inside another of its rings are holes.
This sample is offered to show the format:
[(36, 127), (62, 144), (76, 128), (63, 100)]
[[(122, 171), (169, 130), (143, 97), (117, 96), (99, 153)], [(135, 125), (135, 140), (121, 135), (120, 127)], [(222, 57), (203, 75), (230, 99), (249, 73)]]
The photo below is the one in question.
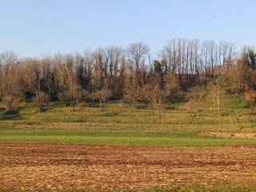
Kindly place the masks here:
[(254, 49), (241, 51), (234, 43), (172, 39), (158, 56), (142, 42), (99, 47), (80, 54), (18, 58), (13, 51), (0, 54), (0, 97), (8, 109), (19, 102), (34, 102), (42, 111), (47, 102), (152, 103), (159, 109), (166, 100), (187, 99), (194, 109), (212, 93), (216, 110), (222, 94), (236, 94), (248, 106), (256, 102)]

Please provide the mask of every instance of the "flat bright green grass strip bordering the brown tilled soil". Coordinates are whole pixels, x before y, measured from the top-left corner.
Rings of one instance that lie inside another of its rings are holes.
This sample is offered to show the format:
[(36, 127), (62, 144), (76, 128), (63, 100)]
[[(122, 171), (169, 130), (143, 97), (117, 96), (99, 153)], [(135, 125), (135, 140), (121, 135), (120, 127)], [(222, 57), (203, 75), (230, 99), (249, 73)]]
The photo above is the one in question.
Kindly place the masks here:
[(211, 146), (225, 144), (256, 144), (256, 139), (206, 138), (194, 133), (136, 133), (82, 130), (1, 129), (0, 140), (34, 142), (83, 142), (153, 146)]

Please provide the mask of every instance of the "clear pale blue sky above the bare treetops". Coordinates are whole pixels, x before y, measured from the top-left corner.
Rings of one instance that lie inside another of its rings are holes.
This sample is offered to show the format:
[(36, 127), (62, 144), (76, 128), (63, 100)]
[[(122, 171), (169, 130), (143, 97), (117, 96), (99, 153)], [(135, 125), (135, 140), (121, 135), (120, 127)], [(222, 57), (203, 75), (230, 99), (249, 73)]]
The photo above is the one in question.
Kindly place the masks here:
[(170, 38), (256, 45), (255, 0), (0, 0), (0, 51), (74, 53)]

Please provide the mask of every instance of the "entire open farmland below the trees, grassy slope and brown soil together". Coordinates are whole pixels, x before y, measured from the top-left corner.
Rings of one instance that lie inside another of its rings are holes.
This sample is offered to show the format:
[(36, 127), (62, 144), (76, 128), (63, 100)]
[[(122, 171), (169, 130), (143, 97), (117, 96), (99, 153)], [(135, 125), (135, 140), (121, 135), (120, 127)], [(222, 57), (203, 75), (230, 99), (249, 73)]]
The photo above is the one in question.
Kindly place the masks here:
[[(239, 105), (242, 105), (241, 103)], [(107, 102), (1, 108), (2, 191), (255, 191), (256, 118)]]

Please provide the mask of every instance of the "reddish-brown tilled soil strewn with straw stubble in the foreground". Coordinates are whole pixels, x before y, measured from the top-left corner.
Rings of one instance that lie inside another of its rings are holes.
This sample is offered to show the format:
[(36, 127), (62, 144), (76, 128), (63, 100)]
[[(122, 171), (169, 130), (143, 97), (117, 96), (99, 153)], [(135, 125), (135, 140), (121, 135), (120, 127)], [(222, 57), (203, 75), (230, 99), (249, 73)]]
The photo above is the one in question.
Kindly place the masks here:
[(0, 189), (111, 191), (256, 182), (256, 147), (0, 142)]

